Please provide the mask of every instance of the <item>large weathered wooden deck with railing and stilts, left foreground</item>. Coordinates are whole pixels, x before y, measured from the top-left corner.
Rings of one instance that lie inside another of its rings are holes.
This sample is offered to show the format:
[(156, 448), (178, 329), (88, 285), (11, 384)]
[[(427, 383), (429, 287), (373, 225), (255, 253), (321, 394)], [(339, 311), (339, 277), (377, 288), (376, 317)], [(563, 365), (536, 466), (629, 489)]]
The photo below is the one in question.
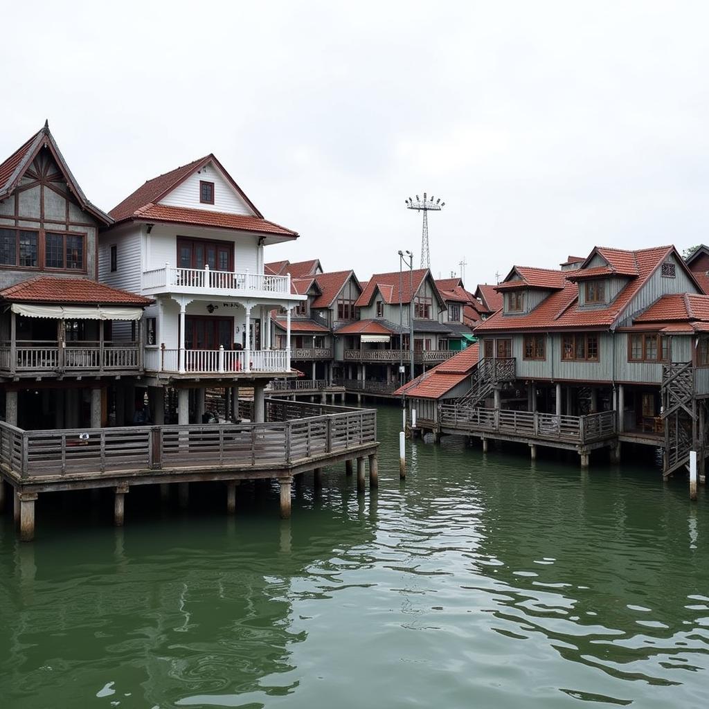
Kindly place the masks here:
[[(339, 462), (357, 461), (357, 488), (377, 484), (376, 411), (295, 401), (267, 400), (267, 423), (133, 426), (28, 431), (0, 423), (0, 478), (15, 494), (21, 537), (34, 531), (39, 493), (115, 487), (116, 523), (133, 485), (228, 483), (277, 478), (281, 516), (290, 515), (293, 477)], [(5, 502), (0, 480), (0, 506)]]

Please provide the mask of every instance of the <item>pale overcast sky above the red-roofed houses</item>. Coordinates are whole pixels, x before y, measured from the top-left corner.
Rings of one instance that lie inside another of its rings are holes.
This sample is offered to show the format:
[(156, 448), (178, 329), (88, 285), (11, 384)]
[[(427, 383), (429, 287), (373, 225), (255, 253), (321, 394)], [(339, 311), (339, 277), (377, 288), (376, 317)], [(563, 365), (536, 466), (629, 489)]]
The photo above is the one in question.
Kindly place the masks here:
[[(45, 118), (106, 211), (213, 152), (266, 218), (268, 260), (359, 277), (420, 252), (494, 282), (593, 245), (705, 235), (709, 6), (547, 2), (13, 2), (4, 158)], [(7, 31), (9, 30), (9, 31)]]

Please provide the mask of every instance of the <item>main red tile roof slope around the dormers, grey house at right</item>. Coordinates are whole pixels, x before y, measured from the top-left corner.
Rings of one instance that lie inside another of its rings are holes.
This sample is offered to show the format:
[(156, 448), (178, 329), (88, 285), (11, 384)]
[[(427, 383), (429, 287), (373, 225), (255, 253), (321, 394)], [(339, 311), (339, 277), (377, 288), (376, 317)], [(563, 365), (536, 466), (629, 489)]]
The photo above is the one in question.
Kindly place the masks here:
[[(601, 250), (598, 250), (601, 252)], [(603, 250), (608, 252), (610, 250)], [(626, 306), (637, 294), (647, 279), (659, 267), (659, 265), (674, 253), (676, 259), (681, 261), (681, 257), (676, 252), (674, 246), (660, 246), (650, 249), (641, 249), (629, 252), (630, 257), (623, 257), (619, 250), (613, 250), (613, 260), (618, 264), (637, 264), (638, 277), (630, 282), (620, 291), (613, 303), (607, 308), (594, 308), (584, 311), (578, 307), (579, 289), (575, 283), (564, 280), (562, 290), (554, 291), (542, 301), (530, 313), (520, 316), (504, 315), (501, 312), (478, 325), (474, 332), (483, 334), (486, 332), (503, 332), (506, 330), (549, 330), (564, 328), (599, 328), (605, 329), (613, 325), (625, 311)]]

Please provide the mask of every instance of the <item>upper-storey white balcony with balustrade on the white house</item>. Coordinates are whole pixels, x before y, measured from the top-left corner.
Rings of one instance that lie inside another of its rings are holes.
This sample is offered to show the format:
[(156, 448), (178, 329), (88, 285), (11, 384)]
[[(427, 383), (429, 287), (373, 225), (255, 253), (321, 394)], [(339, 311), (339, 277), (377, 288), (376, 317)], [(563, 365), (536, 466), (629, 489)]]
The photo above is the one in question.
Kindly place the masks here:
[(169, 264), (143, 271), (143, 294), (181, 293), (200, 296), (242, 296), (249, 298), (294, 298), (290, 276), (270, 276), (238, 271), (176, 268)]

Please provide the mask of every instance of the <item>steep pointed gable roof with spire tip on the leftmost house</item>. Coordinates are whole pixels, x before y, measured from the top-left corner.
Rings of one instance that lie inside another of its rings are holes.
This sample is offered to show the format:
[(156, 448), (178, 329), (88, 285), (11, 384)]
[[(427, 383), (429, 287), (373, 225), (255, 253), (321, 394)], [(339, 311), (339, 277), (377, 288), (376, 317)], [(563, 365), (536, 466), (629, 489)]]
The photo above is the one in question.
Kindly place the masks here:
[(48, 122), (45, 122), (43, 128), (38, 130), (26, 143), (18, 147), (10, 157), (0, 163), (0, 199), (5, 199), (13, 193), (21, 177), (25, 174), (27, 168), (30, 167), (35, 155), (37, 155), (43, 147), (46, 147), (52, 154), (52, 157), (67, 181), (69, 190), (77, 198), (82, 209), (94, 216), (104, 225), (113, 223), (113, 220), (108, 214), (101, 211), (101, 209), (86, 198), (84, 191), (69, 169), (69, 165), (62, 155), (59, 145), (57, 145), (54, 136), (50, 132)]

